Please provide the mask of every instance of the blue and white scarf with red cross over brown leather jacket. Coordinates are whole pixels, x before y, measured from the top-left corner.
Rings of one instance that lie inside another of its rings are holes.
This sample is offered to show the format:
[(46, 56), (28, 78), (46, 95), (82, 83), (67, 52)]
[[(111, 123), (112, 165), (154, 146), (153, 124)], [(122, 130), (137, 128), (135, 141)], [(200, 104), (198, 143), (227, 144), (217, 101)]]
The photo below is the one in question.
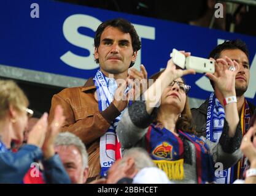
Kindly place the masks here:
[[(96, 92), (98, 96), (99, 111), (106, 110), (114, 99), (115, 90), (117, 89), (117, 82), (114, 78), (107, 78), (98, 70), (93, 81), (96, 86)], [(126, 89), (127, 91), (128, 89)], [(114, 164), (115, 160), (121, 158), (120, 142), (118, 140), (115, 129), (117, 123), (122, 117), (117, 116), (114, 121), (111, 122), (111, 126), (107, 132), (101, 136), (99, 143), (99, 161), (101, 164), (101, 176), (106, 175), (106, 171)]]

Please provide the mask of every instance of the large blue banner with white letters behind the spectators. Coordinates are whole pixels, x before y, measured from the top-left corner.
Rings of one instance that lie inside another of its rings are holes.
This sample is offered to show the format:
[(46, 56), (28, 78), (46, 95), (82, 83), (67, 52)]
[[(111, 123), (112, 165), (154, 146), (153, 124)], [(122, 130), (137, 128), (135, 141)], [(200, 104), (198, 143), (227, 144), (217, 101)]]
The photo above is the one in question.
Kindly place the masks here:
[[(1, 1), (0, 7), (1, 66), (83, 80), (98, 68), (93, 58), (96, 28), (111, 18), (126, 18), (136, 27), (142, 40), (136, 66), (144, 64), (149, 75), (166, 66), (173, 48), (207, 58), (223, 40), (242, 39), (249, 48), (251, 65), (246, 97), (256, 104), (256, 37), (51, 0)], [(192, 86), (190, 97), (209, 97), (211, 85), (203, 74), (186, 80)]]

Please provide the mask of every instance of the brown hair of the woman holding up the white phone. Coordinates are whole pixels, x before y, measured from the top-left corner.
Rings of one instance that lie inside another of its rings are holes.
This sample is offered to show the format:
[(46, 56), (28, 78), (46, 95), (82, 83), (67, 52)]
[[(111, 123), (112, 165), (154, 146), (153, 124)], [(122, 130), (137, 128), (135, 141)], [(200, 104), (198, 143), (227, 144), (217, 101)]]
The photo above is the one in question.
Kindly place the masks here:
[[(163, 73), (165, 69), (161, 70), (160, 72), (157, 72), (156, 74), (153, 74), (150, 79), (153, 79), (154, 82), (157, 80), (158, 77)], [(185, 83), (184, 78), (182, 80)], [(155, 119), (155, 122), (158, 121)], [(192, 124), (192, 114), (190, 111), (190, 105), (188, 101), (188, 96), (186, 96), (186, 102), (185, 102), (185, 107), (184, 110), (181, 112), (181, 117), (178, 118), (176, 122), (176, 129), (177, 130), (182, 130), (184, 132), (187, 132), (189, 134), (196, 134), (195, 132), (195, 126)]]

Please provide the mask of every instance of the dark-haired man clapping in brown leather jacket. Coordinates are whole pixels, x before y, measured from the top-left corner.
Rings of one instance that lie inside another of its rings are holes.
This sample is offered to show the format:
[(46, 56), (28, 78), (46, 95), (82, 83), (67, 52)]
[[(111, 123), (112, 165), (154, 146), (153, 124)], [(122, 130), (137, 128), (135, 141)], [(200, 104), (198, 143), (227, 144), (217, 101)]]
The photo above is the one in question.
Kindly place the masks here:
[[(134, 26), (122, 18), (105, 21), (99, 25), (96, 31), (94, 56), (104, 77), (111, 77), (110, 74), (112, 74), (115, 81), (117, 79), (126, 80), (128, 69), (133, 66), (140, 48), (141, 42)], [(144, 66), (141, 66), (141, 72), (134, 68), (130, 69), (129, 78), (139, 80), (147, 78)], [(122, 85), (118, 86), (117, 90), (120, 88)], [(49, 113), (49, 120), (52, 121), (56, 105), (61, 105), (64, 109), (64, 116), (66, 116), (61, 131), (77, 135), (87, 147), (89, 155), (87, 183), (100, 178), (100, 138), (128, 103), (114, 99), (105, 110), (100, 111), (98, 98), (95, 80), (89, 78), (84, 86), (66, 88), (55, 94)]]

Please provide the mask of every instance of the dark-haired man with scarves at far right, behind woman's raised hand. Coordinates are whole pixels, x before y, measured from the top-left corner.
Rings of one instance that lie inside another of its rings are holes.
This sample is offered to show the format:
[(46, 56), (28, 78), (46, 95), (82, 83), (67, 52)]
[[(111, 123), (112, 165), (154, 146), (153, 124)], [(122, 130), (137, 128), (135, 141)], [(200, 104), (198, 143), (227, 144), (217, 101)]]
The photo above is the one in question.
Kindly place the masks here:
[[(244, 136), (249, 129), (250, 117), (255, 109), (255, 106), (250, 104), (250, 102), (248, 102), (244, 97), (244, 93), (248, 88), (250, 79), (249, 53), (246, 43), (242, 42), (241, 40), (224, 42), (214, 48), (209, 57), (215, 60), (227, 59), (228, 57), (232, 61), (238, 62), (239, 72), (236, 74), (235, 78), (236, 96), (223, 97), (220, 89), (218, 89), (214, 82), (210, 80), (211, 85), (214, 88), (214, 92), (212, 92), (209, 99), (200, 105), (199, 108), (192, 108), (191, 110), (193, 122), (196, 126), (196, 132), (198, 135), (203, 135), (211, 141), (219, 141), (223, 129), (228, 126), (228, 123), (225, 120), (224, 107), (231, 102), (237, 102), (240, 122), (236, 129), (239, 129), (239, 132), (242, 134), (242, 136)], [(227, 63), (227, 61), (223, 61), (223, 63)], [(230, 65), (227, 64), (227, 66)], [(233, 69), (235, 69), (235, 67), (230, 66), (230, 70)], [(235, 135), (235, 137), (238, 136)], [(236, 148), (239, 148), (239, 145), (230, 146), (230, 150)], [(241, 179), (243, 177), (245, 167), (246, 159), (244, 157), (235, 166), (229, 168), (228, 170), (224, 170), (223, 176), (217, 177), (217, 183), (230, 184), (236, 179)]]

